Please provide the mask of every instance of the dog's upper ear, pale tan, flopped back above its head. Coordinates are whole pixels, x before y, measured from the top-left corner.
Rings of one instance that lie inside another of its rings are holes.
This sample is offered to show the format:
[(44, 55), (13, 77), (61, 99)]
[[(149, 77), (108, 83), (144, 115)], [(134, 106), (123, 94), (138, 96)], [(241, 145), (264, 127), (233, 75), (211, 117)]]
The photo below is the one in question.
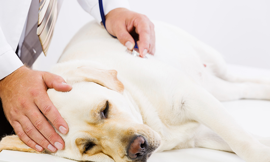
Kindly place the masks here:
[(68, 84), (75, 82), (96, 82), (106, 88), (112, 89), (119, 93), (124, 92), (124, 85), (117, 79), (116, 70), (99, 70), (91, 67), (78, 67), (63, 74)]

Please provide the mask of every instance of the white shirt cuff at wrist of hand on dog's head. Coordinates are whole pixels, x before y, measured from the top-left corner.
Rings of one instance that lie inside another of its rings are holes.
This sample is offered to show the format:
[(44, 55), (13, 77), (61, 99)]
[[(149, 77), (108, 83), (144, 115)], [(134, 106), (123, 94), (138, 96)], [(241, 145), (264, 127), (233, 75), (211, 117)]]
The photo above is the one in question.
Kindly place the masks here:
[(12, 49), (5, 52), (0, 56), (0, 79), (13, 73), (21, 66), (23, 66), (22, 61)]

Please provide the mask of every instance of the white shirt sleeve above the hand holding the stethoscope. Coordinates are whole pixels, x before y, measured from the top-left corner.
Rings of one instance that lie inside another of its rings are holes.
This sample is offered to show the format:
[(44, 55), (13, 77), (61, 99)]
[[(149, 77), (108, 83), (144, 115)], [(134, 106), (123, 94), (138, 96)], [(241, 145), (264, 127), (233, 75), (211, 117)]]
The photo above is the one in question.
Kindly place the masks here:
[[(98, 0), (77, 0), (82, 8), (90, 13), (98, 23), (101, 23)], [(127, 8), (130, 10), (128, 0), (103, 0), (104, 14), (107, 15), (111, 10), (116, 8)]]

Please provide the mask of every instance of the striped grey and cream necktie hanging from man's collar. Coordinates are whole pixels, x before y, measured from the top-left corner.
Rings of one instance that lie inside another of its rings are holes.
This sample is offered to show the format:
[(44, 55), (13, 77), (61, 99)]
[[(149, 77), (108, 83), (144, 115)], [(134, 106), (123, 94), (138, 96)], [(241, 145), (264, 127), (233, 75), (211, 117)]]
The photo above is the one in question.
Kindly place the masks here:
[(32, 66), (43, 51), (45, 56), (52, 39), (53, 29), (62, 0), (32, 0), (28, 12), (25, 38), (20, 59)]

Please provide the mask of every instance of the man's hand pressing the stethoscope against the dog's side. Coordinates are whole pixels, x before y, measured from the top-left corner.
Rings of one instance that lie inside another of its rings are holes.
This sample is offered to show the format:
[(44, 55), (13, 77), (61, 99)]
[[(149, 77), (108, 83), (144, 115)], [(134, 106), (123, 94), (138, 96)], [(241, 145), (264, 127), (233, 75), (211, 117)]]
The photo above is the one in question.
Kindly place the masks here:
[(130, 50), (134, 48), (135, 42), (129, 33), (135, 29), (139, 35), (137, 44), (140, 56), (144, 57), (147, 52), (155, 54), (154, 24), (145, 15), (126, 8), (116, 8), (106, 15), (105, 25), (108, 32)]

